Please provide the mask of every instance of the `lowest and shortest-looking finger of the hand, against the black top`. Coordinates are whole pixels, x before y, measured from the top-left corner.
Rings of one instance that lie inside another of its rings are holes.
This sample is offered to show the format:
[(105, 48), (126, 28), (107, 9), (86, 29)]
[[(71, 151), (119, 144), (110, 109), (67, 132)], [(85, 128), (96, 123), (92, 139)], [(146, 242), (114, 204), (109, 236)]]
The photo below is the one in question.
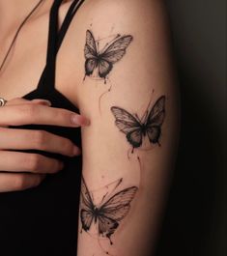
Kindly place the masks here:
[(0, 193), (28, 189), (40, 185), (45, 175), (0, 173)]

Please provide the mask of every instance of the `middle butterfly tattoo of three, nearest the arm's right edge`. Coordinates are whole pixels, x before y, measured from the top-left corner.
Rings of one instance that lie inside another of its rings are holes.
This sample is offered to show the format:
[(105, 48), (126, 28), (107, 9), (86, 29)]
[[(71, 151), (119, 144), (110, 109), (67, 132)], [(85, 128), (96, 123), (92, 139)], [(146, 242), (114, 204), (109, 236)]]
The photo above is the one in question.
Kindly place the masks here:
[(116, 119), (115, 125), (127, 135), (133, 149), (142, 145), (145, 136), (148, 136), (151, 143), (159, 144), (161, 126), (165, 118), (165, 96), (156, 100), (150, 112), (147, 109), (142, 119), (118, 106), (111, 107), (111, 111)]

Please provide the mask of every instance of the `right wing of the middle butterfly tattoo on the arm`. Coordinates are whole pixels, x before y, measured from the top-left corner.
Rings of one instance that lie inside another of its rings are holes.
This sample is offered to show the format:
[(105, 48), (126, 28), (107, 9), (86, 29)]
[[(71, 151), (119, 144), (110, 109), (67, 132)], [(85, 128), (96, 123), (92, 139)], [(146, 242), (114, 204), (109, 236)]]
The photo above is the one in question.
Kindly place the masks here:
[(146, 123), (147, 134), (151, 143), (158, 143), (161, 125), (165, 118), (165, 97), (161, 96), (156, 100)]

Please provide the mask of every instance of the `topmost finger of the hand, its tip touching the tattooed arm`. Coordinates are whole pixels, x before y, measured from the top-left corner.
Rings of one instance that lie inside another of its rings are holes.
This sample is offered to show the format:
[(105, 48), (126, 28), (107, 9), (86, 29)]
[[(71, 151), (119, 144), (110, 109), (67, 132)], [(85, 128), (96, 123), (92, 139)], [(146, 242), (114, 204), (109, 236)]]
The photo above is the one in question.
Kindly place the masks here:
[(59, 127), (84, 127), (90, 124), (84, 116), (67, 109), (41, 104), (6, 105), (0, 108), (0, 126), (49, 125)]

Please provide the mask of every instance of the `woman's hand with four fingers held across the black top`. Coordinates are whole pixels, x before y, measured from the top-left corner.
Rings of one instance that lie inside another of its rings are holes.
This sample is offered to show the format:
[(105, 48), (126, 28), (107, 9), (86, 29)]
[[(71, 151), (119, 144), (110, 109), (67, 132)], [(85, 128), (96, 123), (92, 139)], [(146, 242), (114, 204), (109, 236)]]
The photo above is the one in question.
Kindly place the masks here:
[(8, 128), (31, 124), (76, 128), (88, 126), (89, 121), (69, 110), (50, 107), (47, 100), (14, 99), (0, 107), (0, 192), (40, 185), (45, 174), (56, 173), (63, 168), (58, 159), (16, 150), (80, 155), (78, 147), (67, 138), (43, 130)]

